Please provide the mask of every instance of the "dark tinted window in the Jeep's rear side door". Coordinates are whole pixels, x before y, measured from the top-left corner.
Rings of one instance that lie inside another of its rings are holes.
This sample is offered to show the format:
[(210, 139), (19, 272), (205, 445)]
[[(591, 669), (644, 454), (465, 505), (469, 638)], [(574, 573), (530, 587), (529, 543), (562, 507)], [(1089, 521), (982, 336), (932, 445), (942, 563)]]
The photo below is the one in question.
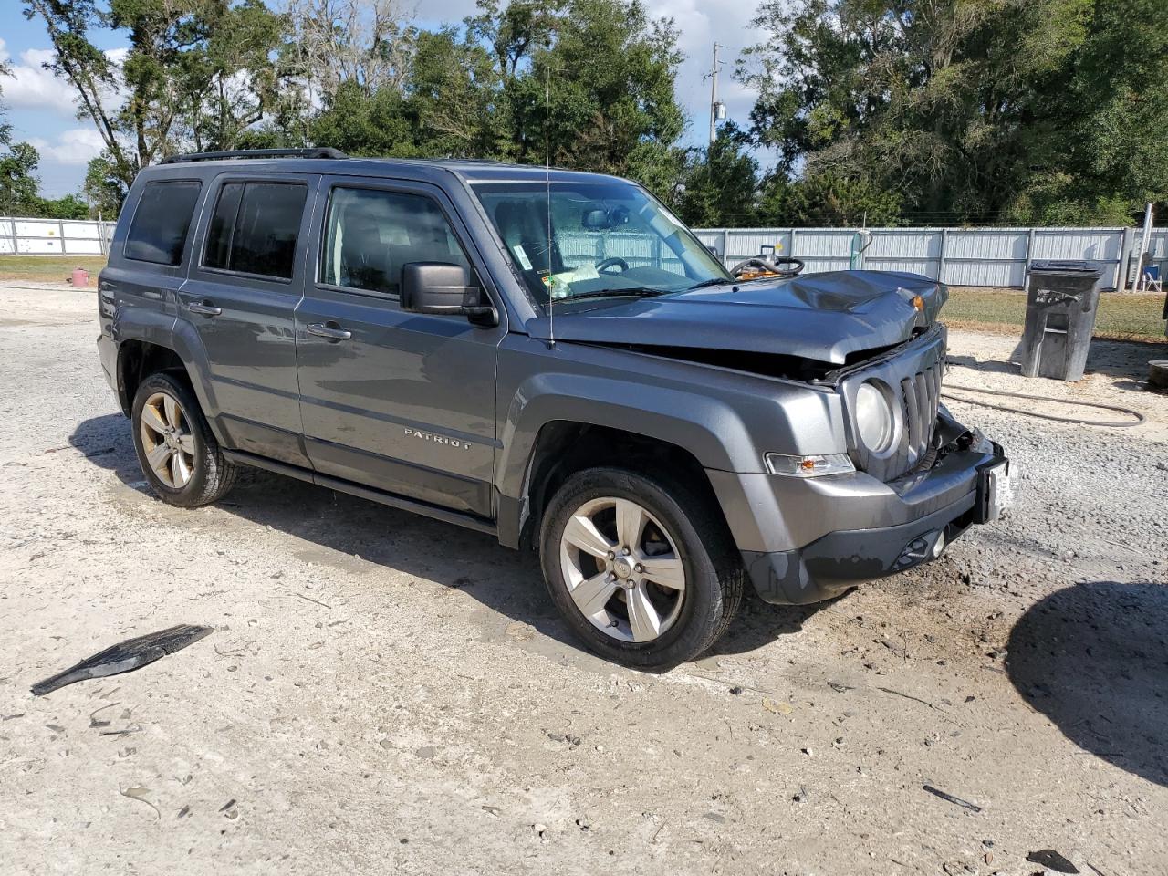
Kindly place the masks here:
[(207, 232), (203, 266), (291, 279), (308, 187), (301, 182), (227, 182)]

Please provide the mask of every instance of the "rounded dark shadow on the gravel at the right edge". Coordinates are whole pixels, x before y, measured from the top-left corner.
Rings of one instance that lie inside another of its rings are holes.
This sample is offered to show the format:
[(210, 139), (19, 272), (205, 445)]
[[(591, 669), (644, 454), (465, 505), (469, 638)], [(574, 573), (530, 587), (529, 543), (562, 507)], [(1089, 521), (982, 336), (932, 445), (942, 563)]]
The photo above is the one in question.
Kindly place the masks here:
[(1051, 593), (1015, 624), (1008, 654), (1014, 687), (1066, 738), (1168, 785), (1168, 584)]

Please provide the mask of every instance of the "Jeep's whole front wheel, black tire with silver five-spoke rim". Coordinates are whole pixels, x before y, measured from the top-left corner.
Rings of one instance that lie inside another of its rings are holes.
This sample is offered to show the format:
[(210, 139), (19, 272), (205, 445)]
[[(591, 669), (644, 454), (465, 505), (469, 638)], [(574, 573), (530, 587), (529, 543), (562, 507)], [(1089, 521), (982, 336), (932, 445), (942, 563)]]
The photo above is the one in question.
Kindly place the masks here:
[(540, 537), (543, 576), (568, 625), (614, 662), (667, 669), (708, 651), (742, 602), (744, 572), (709, 500), (658, 475), (572, 474)]

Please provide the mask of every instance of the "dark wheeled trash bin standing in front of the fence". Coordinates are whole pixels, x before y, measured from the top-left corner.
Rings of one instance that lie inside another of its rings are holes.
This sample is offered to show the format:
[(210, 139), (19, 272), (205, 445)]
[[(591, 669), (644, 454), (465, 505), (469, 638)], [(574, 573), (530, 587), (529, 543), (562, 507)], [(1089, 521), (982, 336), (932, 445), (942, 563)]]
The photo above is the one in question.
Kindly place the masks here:
[(1101, 271), (1087, 262), (1034, 262), (1027, 277), (1022, 374), (1083, 377), (1099, 305)]

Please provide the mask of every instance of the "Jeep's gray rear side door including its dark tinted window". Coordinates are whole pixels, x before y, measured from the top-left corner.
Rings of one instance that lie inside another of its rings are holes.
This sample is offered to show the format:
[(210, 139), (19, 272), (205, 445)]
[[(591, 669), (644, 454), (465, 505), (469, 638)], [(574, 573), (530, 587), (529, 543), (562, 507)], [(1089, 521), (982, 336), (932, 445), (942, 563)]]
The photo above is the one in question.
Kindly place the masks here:
[(319, 180), (255, 173), (214, 180), (175, 327), (186, 322), (206, 350), (208, 413), (228, 445), (304, 467), (292, 314)]

